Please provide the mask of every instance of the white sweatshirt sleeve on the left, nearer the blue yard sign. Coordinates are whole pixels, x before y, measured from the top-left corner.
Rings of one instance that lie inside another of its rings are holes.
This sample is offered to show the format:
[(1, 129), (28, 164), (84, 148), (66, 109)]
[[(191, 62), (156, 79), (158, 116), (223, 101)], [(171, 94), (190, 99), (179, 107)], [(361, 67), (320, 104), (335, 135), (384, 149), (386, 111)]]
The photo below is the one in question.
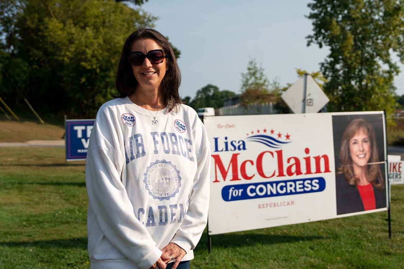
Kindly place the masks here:
[[(101, 110), (101, 109), (100, 109)], [(89, 206), (105, 237), (139, 268), (149, 268), (161, 256), (147, 229), (136, 218), (120, 178), (122, 159), (111, 117), (97, 114), (86, 158)], [(118, 155), (118, 156), (117, 156)]]

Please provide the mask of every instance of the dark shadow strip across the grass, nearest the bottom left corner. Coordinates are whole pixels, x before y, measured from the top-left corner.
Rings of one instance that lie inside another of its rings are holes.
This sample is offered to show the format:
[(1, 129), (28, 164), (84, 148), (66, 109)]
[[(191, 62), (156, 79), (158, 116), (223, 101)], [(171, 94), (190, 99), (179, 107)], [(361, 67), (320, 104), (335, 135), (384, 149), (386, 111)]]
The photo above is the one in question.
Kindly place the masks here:
[(57, 239), (28, 242), (0, 242), (3, 247), (38, 247), (38, 248), (87, 248), (87, 238)]

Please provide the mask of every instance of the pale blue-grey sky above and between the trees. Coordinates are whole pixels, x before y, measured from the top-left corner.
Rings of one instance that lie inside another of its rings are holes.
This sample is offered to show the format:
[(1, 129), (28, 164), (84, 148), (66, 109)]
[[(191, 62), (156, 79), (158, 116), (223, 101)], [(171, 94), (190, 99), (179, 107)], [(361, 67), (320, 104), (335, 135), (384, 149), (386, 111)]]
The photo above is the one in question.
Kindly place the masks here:
[[(143, 10), (157, 16), (155, 29), (181, 50), (181, 97), (195, 97), (207, 84), (240, 93), (241, 73), (255, 58), (270, 81), (294, 83), (296, 68), (319, 71), (329, 51), (312, 44), (306, 0), (149, 0)], [(404, 71), (404, 65), (400, 65)], [(395, 78), (404, 94), (404, 73)]]

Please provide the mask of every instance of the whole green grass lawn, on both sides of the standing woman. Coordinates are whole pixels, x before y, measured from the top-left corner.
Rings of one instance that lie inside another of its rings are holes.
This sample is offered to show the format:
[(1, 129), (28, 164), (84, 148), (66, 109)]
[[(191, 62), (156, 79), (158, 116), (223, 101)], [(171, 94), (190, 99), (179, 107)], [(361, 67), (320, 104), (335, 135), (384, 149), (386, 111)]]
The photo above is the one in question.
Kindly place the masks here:
[[(63, 148), (0, 148), (0, 268), (89, 268), (84, 162)], [(404, 186), (387, 212), (212, 237), (194, 269), (402, 268)]]

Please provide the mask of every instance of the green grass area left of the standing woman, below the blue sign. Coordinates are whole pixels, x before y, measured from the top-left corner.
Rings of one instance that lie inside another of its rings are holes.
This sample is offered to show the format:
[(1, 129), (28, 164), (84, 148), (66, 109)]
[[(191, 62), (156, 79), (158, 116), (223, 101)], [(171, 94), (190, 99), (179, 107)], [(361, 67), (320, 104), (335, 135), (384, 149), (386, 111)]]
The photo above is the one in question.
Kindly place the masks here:
[(63, 148), (0, 149), (0, 268), (87, 268), (84, 163)]

